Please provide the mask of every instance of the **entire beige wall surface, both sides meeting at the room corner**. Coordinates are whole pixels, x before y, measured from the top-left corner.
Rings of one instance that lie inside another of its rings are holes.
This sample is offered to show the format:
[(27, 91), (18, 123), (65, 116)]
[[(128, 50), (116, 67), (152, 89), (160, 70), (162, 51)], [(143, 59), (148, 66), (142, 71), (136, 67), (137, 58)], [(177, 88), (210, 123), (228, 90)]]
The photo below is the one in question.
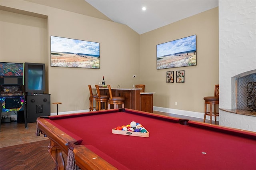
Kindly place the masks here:
[[(218, 8), (139, 35), (122, 24), (22, 0), (1, 1), (1, 6), (43, 15), (38, 18), (1, 8), (0, 59), (46, 63), (48, 92), (51, 103), (62, 102), (59, 112), (88, 109), (87, 85), (98, 84), (102, 76), (112, 87), (146, 84), (146, 91), (156, 92), (154, 106), (201, 113), (203, 97), (213, 95), (218, 84)], [(197, 66), (156, 70), (157, 44), (194, 34)], [(100, 42), (100, 69), (50, 67), (50, 36)], [(166, 71), (176, 75), (177, 70), (185, 70), (185, 83), (176, 79), (166, 83)], [(56, 106), (51, 105), (54, 112)]]

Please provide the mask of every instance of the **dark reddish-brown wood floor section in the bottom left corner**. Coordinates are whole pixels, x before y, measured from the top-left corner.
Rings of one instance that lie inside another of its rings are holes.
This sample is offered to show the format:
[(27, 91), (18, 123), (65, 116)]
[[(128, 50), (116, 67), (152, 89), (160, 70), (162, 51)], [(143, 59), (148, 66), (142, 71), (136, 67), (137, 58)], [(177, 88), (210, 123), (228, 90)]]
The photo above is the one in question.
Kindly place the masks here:
[[(2, 170), (53, 170), (55, 163), (48, 153), (50, 140), (0, 148)], [(64, 155), (66, 159), (66, 156)]]

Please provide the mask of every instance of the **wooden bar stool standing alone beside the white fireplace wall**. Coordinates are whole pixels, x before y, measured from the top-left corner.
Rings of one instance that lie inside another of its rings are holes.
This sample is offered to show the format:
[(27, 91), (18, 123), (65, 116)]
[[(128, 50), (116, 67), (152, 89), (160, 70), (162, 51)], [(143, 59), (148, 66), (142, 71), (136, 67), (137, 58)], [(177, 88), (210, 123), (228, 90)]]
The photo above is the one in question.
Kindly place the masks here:
[[(210, 104), (210, 112), (207, 112), (207, 104)], [(204, 122), (206, 116), (210, 116), (210, 124), (212, 124), (212, 117), (215, 118), (219, 116), (219, 113), (216, 112), (217, 105), (219, 104), (219, 85), (215, 85), (214, 96), (204, 97)], [(214, 113), (212, 113), (212, 105), (214, 105)]]

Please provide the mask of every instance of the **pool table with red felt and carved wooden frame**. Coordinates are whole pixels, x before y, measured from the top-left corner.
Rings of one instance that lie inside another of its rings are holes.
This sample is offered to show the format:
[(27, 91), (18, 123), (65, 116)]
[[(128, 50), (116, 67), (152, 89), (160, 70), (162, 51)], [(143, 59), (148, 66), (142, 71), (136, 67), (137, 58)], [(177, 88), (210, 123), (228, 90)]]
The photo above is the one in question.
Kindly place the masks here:
[[(131, 121), (149, 137), (112, 134)], [(37, 123), (50, 138), (56, 169), (74, 163), (93, 170), (256, 169), (256, 132), (124, 108), (39, 117)]]

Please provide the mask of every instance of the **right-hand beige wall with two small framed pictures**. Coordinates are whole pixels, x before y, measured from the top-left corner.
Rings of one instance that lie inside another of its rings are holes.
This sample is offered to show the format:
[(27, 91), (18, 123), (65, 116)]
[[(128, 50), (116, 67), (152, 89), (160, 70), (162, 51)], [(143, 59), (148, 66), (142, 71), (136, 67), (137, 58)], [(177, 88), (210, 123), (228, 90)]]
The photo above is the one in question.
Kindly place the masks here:
[[(195, 34), (196, 66), (156, 69), (157, 44)], [(218, 50), (218, 8), (140, 35), (140, 83), (156, 92), (154, 106), (203, 113), (203, 97), (214, 95), (218, 84)], [(178, 70), (185, 71), (185, 83), (176, 83)], [(166, 83), (166, 71), (174, 71), (174, 83)]]

